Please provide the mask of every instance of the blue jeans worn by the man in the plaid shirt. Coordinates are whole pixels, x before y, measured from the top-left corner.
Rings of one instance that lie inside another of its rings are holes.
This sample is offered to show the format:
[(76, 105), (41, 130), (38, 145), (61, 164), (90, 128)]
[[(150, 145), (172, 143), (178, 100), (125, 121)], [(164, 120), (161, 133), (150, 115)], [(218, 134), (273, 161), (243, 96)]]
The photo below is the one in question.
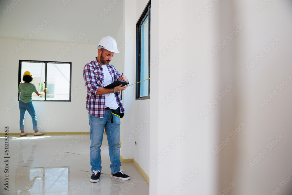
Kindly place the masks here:
[(93, 170), (101, 171), (101, 156), (100, 146), (102, 143), (103, 130), (107, 134), (107, 142), (109, 145), (109, 158), (111, 165), (109, 167), (112, 173), (119, 172), (120, 161), (120, 118), (116, 115), (113, 116), (114, 122), (111, 122), (112, 113), (109, 110), (105, 110), (105, 118), (98, 118), (88, 113), (89, 126), (90, 126), (90, 165), (91, 172)]

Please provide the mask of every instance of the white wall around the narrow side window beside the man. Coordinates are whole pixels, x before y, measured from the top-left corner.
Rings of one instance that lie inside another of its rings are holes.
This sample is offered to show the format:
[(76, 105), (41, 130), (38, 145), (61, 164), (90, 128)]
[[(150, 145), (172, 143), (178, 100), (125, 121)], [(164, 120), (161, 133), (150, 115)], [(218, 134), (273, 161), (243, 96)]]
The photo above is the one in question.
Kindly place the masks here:
[[(124, 2), (125, 75), (130, 84), (136, 80), (136, 23), (147, 3), (135, 0)], [(134, 158), (149, 176), (150, 100), (135, 100), (135, 85), (126, 89), (124, 96), (126, 112), (121, 155), (125, 159)]]

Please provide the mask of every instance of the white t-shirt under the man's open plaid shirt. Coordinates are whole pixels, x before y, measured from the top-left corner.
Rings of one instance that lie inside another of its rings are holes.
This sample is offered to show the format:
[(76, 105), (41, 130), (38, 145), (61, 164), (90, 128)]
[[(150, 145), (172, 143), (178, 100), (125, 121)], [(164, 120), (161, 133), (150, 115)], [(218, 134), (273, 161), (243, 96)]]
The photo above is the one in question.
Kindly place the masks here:
[[(112, 75), (110, 75), (109, 70), (107, 69), (107, 65), (101, 65), (101, 66), (102, 66), (102, 72), (104, 75), (103, 86), (107, 86), (114, 81), (112, 79)], [(114, 93), (105, 94), (105, 108), (106, 107), (109, 107), (113, 110), (119, 107), (117, 103), (116, 95)]]

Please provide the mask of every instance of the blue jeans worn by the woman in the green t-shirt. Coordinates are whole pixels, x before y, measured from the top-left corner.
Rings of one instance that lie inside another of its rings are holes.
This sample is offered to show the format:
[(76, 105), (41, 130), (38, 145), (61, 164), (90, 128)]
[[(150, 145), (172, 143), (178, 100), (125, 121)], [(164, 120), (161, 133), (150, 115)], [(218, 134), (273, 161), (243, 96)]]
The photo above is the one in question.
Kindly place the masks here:
[(32, 117), (32, 126), (34, 131), (36, 131), (37, 130), (36, 112), (34, 111), (34, 106), (32, 105), (32, 102), (24, 103), (22, 101), (19, 101), (19, 110), (20, 110), (19, 130), (20, 131), (24, 130), (25, 111), (27, 111), (29, 115)]

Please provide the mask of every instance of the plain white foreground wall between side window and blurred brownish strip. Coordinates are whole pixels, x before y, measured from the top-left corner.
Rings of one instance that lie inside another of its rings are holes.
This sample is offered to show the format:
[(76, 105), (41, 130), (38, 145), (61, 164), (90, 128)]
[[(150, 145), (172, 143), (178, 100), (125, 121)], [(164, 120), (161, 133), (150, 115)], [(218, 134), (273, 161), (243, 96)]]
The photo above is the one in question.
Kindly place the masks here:
[(150, 194), (216, 194), (218, 161), (211, 150), (218, 136), (218, 107), (199, 115), (219, 88), (217, 62), (207, 52), (216, 35), (215, 13), (201, 23), (195, 17), (205, 5), (151, 4), (151, 61), (159, 63), (151, 67)]

